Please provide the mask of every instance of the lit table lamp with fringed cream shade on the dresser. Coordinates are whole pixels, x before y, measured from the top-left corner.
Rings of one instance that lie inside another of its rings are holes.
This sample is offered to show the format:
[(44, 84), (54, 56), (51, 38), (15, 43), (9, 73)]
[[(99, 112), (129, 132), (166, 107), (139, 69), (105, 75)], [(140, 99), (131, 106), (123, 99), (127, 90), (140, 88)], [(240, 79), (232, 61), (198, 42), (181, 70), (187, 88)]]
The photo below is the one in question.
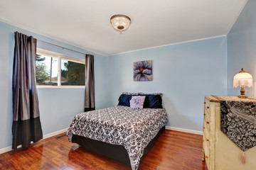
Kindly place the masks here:
[(241, 69), (241, 71), (238, 74), (235, 74), (233, 78), (233, 87), (237, 88), (238, 86), (241, 87), (240, 95), (238, 97), (247, 98), (247, 96), (245, 96), (244, 87), (252, 87), (252, 75)]

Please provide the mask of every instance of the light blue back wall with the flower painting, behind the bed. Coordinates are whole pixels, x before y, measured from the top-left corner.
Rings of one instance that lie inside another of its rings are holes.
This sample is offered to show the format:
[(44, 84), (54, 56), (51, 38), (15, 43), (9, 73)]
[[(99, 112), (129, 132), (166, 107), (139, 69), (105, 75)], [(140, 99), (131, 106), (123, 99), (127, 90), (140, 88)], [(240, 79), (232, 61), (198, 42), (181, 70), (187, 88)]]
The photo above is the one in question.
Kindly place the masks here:
[[(169, 122), (176, 128), (203, 128), (205, 95), (227, 94), (226, 37), (186, 42), (111, 56), (112, 106), (129, 92), (164, 94)], [(133, 62), (153, 60), (153, 81), (133, 81)]]

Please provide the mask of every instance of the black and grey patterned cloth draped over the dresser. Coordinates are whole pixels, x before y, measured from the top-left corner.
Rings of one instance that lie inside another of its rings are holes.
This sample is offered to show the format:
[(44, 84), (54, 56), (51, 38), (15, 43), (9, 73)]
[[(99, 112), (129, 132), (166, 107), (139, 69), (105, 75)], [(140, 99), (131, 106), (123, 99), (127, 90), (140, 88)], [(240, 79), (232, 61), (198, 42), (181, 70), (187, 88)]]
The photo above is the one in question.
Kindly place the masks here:
[(256, 99), (218, 96), (220, 130), (245, 152), (256, 146)]

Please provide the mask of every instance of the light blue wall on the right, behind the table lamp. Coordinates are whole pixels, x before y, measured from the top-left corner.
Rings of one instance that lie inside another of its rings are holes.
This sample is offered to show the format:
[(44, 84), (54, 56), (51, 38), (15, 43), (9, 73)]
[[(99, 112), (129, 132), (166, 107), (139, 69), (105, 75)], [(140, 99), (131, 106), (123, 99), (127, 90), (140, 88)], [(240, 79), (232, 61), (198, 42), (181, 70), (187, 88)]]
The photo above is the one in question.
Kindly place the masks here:
[[(240, 88), (233, 89), (233, 77), (244, 68), (256, 82), (256, 1), (249, 0), (233, 28), (228, 33), (228, 95), (238, 96)], [(247, 96), (255, 96), (253, 88), (245, 88)]]

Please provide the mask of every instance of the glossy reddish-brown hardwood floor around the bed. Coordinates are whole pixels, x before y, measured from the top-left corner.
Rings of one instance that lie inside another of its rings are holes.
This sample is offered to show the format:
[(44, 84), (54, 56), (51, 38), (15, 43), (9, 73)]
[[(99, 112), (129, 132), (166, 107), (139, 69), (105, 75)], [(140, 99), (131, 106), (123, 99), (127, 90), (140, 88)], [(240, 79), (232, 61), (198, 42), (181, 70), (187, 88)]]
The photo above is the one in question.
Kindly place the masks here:
[[(94, 154), (68, 142), (67, 136), (60, 139), (55, 137), (41, 140), (28, 149), (0, 154), (0, 169), (131, 169), (126, 164)], [(207, 169), (201, 158), (201, 135), (164, 130), (149, 154), (140, 163), (139, 170)]]

